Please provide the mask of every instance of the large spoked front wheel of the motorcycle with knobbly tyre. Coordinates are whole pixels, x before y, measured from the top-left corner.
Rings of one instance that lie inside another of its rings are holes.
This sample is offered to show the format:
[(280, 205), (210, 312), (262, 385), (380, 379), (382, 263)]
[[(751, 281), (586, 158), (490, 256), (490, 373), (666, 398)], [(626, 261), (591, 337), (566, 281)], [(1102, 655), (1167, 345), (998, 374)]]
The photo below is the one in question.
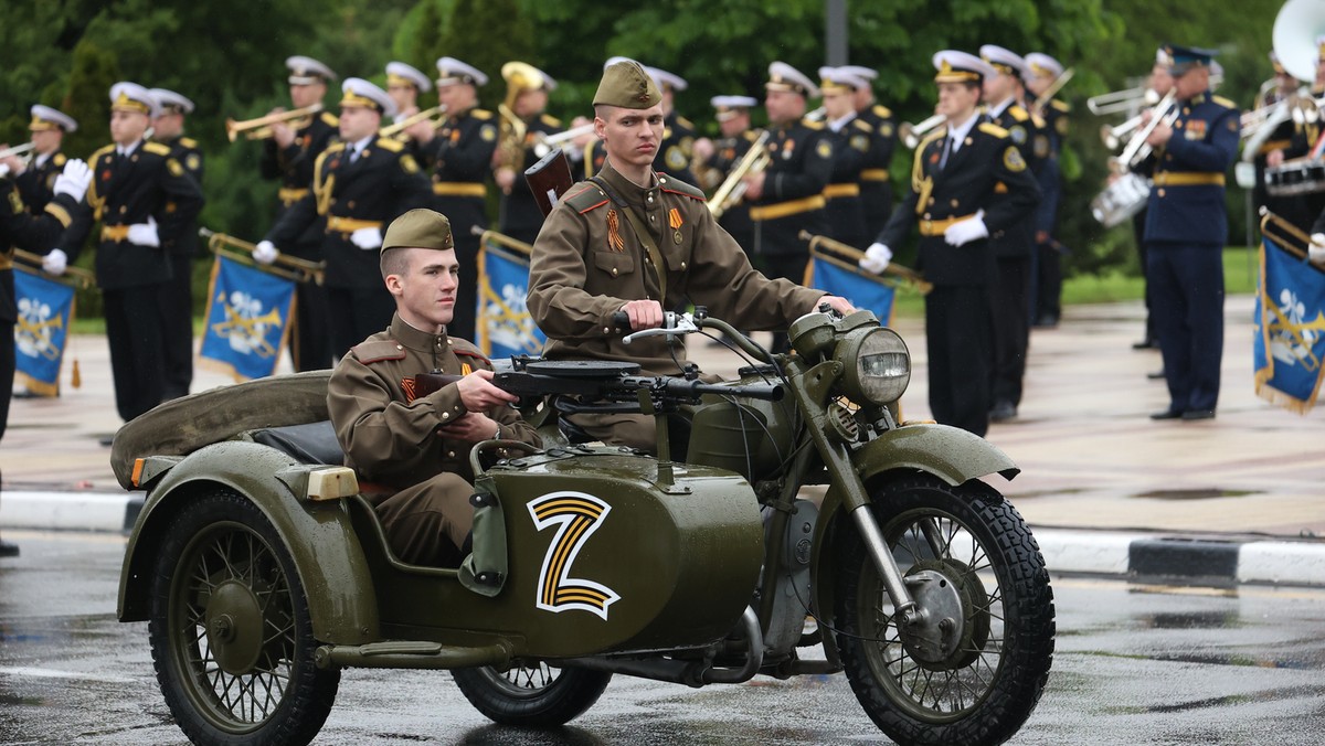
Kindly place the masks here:
[(900, 617), (855, 526), (839, 542), (837, 649), (856, 697), (900, 743), (1002, 743), (1053, 660), (1053, 591), (1030, 529), (982, 482), (918, 476), (873, 511), (921, 616)]

